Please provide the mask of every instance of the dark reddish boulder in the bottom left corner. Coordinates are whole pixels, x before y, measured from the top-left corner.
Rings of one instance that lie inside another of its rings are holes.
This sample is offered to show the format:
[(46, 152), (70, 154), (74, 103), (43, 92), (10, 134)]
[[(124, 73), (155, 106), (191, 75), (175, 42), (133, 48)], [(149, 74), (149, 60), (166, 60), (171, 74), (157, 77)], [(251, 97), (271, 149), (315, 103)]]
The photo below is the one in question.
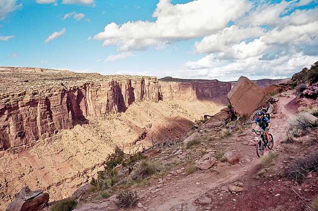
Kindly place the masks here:
[(5, 211), (39, 211), (49, 201), (49, 194), (41, 190), (31, 191), (28, 187), (15, 194), (14, 201)]

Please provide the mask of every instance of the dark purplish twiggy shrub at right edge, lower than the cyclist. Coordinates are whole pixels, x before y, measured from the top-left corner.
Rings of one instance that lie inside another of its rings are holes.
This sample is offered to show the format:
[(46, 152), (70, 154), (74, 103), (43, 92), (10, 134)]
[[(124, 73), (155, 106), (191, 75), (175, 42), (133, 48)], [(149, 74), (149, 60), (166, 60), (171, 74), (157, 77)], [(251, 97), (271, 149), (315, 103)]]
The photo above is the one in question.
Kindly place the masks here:
[(289, 177), (296, 180), (302, 180), (308, 173), (318, 171), (318, 150), (295, 160), (286, 171)]

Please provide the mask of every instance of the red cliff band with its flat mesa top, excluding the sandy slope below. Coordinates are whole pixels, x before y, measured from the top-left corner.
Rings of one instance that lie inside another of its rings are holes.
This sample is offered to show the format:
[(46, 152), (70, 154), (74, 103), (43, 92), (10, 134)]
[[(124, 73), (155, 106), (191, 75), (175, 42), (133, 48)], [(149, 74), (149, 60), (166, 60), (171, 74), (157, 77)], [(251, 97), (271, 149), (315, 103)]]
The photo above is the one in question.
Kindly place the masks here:
[(0, 74), (7, 81), (0, 85), (0, 151), (29, 146), (87, 123), (89, 117), (125, 112), (134, 102), (220, 100), (227, 104), (231, 89), (230, 83), (217, 80), (158, 82), (154, 77), (34, 68), (4, 68)]

